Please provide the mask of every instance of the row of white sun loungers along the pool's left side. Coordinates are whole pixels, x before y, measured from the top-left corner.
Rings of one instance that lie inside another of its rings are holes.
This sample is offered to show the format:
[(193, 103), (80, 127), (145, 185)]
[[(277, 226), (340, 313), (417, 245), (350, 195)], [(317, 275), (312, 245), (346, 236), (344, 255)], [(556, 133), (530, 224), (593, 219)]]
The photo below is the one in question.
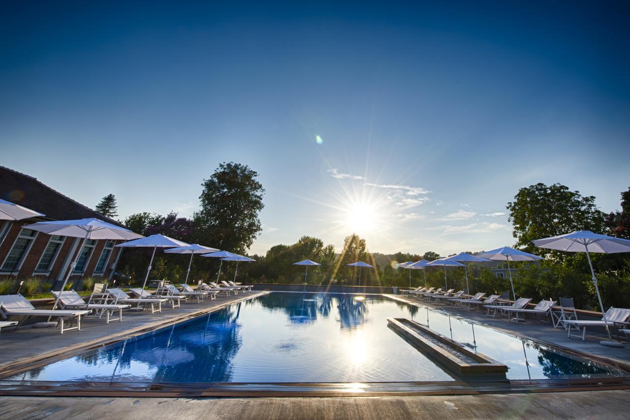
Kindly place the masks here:
[[(123, 310), (150, 308), (151, 313), (162, 312), (162, 304), (169, 303), (171, 308), (179, 308), (181, 300), (196, 300), (202, 302), (204, 298), (214, 300), (222, 290), (228, 292), (251, 291), (251, 286), (239, 286), (234, 282), (222, 282), (224, 287), (210, 283), (197, 290), (188, 284), (180, 284), (181, 291), (168, 284), (157, 289), (155, 294), (141, 288), (130, 289), (134, 298), (119, 288), (107, 288), (106, 284), (97, 283), (88, 301), (84, 301), (76, 291), (54, 291), (55, 298), (59, 298), (60, 309), (35, 309), (22, 295), (0, 295), (0, 329), (6, 327), (20, 327), (30, 317), (55, 318), (59, 326), (59, 334), (69, 330), (81, 330), (81, 319), (84, 317), (105, 317), (106, 324), (110, 321), (122, 322)], [(228, 293), (229, 295), (229, 293)], [(9, 317), (21, 317), (20, 322), (7, 320)], [(76, 324), (76, 325), (75, 325)]]

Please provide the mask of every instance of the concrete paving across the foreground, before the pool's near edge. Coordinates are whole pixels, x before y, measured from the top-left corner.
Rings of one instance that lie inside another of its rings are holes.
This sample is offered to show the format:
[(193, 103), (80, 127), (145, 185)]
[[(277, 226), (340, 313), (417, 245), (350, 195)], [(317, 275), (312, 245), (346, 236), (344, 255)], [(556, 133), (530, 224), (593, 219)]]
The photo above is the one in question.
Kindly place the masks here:
[(630, 391), (454, 397), (0, 397), (0, 419), (627, 419)]

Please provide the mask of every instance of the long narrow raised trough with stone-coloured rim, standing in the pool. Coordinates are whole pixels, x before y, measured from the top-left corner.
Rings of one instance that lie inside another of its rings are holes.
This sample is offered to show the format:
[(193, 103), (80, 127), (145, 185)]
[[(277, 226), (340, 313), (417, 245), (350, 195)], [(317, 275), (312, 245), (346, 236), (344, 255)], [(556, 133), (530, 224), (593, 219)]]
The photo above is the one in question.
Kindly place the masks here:
[[(387, 325), (399, 335), (402, 335), (406, 341), (416, 347), (420, 353), (427, 354), (430, 358), (434, 359), (440, 365), (445, 366), (449, 371), (454, 372), (457, 376), (465, 380), (506, 380), (505, 374), (508, 371), (508, 366), (499, 363), (495, 359), (492, 359), (485, 354), (475, 353), (462, 346), (458, 342), (445, 337), (442, 334), (438, 334), (432, 329), (428, 329), (424, 325), (418, 324), (415, 321), (408, 320), (406, 318), (387, 318)], [(430, 335), (437, 341), (444, 344), (445, 348), (438, 346), (429, 339), (415, 332), (408, 325), (420, 330), (421, 332)], [(450, 349), (451, 351), (448, 351)], [(478, 363), (466, 363), (466, 361), (459, 358), (456, 353), (464, 354)]]

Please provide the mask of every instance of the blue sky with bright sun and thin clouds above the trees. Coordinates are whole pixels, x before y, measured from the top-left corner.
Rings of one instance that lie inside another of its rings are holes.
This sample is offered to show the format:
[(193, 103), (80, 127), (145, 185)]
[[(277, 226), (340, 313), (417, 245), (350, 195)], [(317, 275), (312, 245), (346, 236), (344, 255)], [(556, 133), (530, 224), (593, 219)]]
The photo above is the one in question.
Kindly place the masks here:
[(190, 216), (246, 163), (258, 253), (352, 230), (373, 252), (510, 245), (505, 205), (536, 182), (618, 208), (623, 2), (336, 3), (4, 3), (0, 165)]

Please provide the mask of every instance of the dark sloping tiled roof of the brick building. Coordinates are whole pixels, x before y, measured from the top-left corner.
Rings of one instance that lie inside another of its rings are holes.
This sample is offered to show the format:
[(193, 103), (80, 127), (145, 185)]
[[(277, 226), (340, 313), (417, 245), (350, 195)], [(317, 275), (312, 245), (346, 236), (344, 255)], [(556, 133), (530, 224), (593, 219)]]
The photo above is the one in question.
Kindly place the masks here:
[(96, 218), (122, 226), (117, 221), (98, 214), (48, 185), (42, 184), (37, 178), (4, 166), (0, 166), (0, 198), (43, 213), (47, 219)]

